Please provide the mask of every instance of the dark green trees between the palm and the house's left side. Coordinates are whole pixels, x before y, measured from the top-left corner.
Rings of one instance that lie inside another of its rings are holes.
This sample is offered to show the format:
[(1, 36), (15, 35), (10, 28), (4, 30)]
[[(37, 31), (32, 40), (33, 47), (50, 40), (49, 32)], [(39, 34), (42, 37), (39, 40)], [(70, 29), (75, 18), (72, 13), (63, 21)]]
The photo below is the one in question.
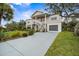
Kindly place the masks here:
[(8, 31), (14, 31), (14, 30), (26, 30), (26, 23), (24, 20), (21, 20), (20, 22), (12, 21), (12, 23), (6, 24)]

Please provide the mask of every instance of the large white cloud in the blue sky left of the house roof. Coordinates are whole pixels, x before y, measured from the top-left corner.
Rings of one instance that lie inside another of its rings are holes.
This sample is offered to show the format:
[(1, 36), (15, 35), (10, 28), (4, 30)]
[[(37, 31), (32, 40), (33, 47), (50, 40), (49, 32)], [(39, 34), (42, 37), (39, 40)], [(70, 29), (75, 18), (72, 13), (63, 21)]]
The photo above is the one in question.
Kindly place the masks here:
[(28, 10), (22, 13), (17, 12), (17, 15), (14, 16), (14, 21), (20, 21), (20, 20), (27, 20), (31, 19), (31, 15), (33, 14), (34, 10)]

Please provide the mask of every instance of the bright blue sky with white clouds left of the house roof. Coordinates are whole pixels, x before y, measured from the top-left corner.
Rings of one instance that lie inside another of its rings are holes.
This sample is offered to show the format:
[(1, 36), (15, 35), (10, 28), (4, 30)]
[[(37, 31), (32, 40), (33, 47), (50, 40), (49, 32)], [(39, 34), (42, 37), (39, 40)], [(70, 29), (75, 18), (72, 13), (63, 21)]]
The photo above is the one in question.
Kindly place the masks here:
[[(45, 4), (44, 3), (11, 3), (11, 8), (13, 9), (13, 21), (20, 21), (30, 19), (31, 15), (36, 11), (44, 11), (45, 12)], [(2, 21), (2, 25), (5, 25), (7, 22)]]

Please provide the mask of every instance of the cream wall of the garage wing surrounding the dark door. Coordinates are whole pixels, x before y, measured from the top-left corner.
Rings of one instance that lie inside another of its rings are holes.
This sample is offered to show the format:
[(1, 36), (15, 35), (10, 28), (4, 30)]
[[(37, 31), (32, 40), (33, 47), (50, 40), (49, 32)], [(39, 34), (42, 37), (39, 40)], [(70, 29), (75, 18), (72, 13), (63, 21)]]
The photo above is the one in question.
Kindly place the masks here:
[[(53, 17), (57, 17), (57, 19), (55, 20), (51, 20)], [(50, 25), (58, 25), (58, 32), (61, 32), (61, 17), (58, 16), (58, 15), (53, 15), (53, 16), (50, 16), (49, 18), (47, 18), (47, 31), (49, 31), (49, 26)]]

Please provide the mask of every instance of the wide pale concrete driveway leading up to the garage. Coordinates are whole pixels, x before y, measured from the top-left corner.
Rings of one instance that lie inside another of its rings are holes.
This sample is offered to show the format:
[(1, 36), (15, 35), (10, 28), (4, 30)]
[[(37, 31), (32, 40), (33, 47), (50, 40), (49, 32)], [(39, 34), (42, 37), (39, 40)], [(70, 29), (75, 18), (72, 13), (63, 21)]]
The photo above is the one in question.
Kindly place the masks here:
[(57, 34), (58, 32), (38, 32), (0, 43), (0, 56), (44, 56)]

